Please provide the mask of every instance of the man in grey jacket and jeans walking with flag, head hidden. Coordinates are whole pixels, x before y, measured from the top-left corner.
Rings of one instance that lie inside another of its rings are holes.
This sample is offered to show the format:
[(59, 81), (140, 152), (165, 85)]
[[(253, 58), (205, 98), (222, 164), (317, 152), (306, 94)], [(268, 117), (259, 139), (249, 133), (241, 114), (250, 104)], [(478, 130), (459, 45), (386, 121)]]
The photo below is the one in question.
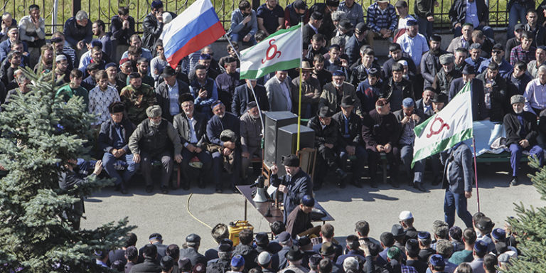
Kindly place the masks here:
[(455, 223), (455, 210), (466, 228), (472, 228), (472, 215), (466, 208), (466, 199), (472, 197), (472, 152), (463, 142), (440, 154), (444, 164), (444, 179), (441, 188), (446, 189), (444, 219), (449, 228)]

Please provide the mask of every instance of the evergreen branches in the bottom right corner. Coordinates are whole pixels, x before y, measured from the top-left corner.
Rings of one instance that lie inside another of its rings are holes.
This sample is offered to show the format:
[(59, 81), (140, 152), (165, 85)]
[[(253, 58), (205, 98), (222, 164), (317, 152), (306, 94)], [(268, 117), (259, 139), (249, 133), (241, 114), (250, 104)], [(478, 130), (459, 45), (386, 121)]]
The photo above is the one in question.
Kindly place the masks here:
[[(530, 166), (539, 168), (537, 159), (531, 159)], [(546, 168), (540, 168), (535, 175), (529, 174), (532, 185), (546, 200)], [(525, 208), (523, 202), (515, 204), (517, 218), (509, 218), (508, 223), (518, 235), (518, 259), (510, 259), (509, 273), (546, 272), (546, 207)]]

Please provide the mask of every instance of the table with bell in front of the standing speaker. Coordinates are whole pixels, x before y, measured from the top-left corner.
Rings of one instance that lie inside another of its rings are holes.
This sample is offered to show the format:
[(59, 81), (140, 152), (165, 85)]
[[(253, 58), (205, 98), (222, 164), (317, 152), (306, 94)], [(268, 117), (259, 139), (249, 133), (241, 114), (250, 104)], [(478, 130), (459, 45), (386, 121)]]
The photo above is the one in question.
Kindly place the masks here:
[[(255, 188), (250, 188), (250, 186), (242, 185), (242, 186), (236, 186), (236, 188), (240, 191), (242, 196), (245, 197), (245, 220), (247, 220), (247, 203), (250, 203), (256, 210), (258, 210), (259, 214), (261, 214), (265, 220), (269, 223), (274, 223), (275, 221), (281, 221), (283, 220), (282, 217), (282, 210), (280, 208), (277, 208), (274, 204), (274, 202), (268, 201), (268, 202), (262, 202), (262, 203), (256, 203), (252, 200), (252, 191), (255, 190)], [(269, 208), (269, 213), (271, 213), (271, 216), (266, 217), (267, 214), (267, 208)], [(324, 213), (326, 213), (326, 216), (319, 220), (312, 220), (313, 222), (322, 222), (326, 223), (326, 221), (333, 221), (332, 215), (330, 215), (324, 208), (319, 204), (319, 202), (315, 202), (315, 208), (318, 208), (319, 210), (322, 210)]]

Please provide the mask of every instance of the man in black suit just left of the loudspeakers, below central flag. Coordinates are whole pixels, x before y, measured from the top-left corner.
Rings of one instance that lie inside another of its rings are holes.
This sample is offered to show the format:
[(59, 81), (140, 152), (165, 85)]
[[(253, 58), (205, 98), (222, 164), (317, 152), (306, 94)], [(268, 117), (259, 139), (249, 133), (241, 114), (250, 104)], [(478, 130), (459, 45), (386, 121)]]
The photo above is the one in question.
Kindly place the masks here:
[[(269, 101), (267, 100), (267, 92), (263, 85), (257, 85), (256, 80), (245, 80), (245, 85), (240, 85), (235, 87), (235, 92), (233, 93), (233, 100), (231, 102), (231, 112), (237, 117), (241, 117), (247, 112), (248, 102), (253, 100), (258, 100), (257, 104), (259, 109), (262, 111), (269, 111)], [(252, 95), (252, 90), (256, 94), (256, 98)]]

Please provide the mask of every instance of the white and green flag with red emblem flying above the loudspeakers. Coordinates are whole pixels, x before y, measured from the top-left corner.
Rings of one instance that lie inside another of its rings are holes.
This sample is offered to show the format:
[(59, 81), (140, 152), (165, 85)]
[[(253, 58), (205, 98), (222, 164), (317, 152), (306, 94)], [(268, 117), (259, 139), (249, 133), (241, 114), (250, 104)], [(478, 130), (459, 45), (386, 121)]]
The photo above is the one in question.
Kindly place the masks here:
[(277, 70), (298, 68), (301, 58), (301, 23), (282, 29), (241, 51), (241, 79), (257, 79)]

